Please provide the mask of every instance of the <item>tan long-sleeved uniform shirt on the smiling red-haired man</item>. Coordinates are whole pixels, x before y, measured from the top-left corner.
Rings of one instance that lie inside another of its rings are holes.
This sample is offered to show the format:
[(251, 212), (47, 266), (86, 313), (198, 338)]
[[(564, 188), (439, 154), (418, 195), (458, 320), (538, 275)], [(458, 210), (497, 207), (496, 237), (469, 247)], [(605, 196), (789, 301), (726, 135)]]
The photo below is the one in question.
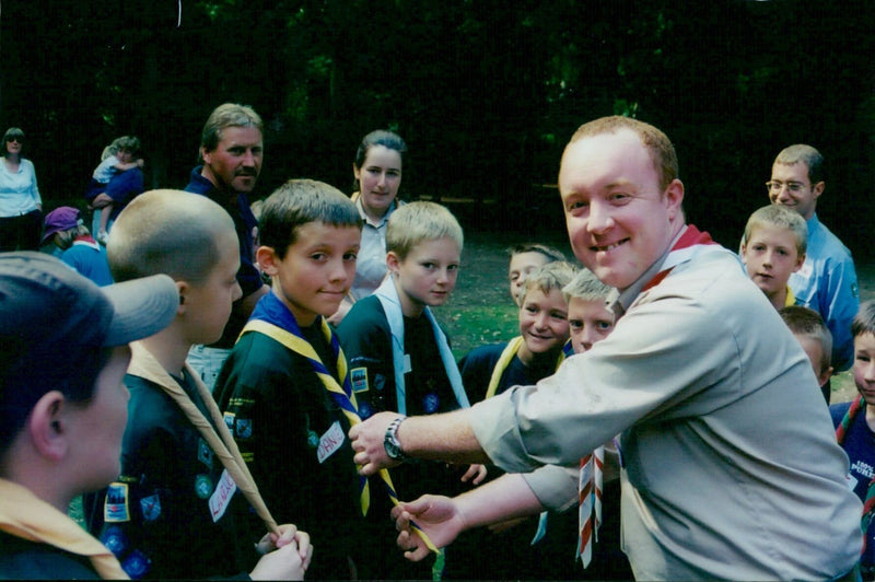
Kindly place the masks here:
[[(860, 501), (810, 363), (724, 249), (619, 302), (607, 339), (538, 385), (476, 405), (504, 470), (573, 465), (621, 435), (623, 549), (638, 579), (829, 579), (862, 544)], [(547, 507), (569, 472), (527, 477)], [(573, 545), (573, 540), (569, 540)]]

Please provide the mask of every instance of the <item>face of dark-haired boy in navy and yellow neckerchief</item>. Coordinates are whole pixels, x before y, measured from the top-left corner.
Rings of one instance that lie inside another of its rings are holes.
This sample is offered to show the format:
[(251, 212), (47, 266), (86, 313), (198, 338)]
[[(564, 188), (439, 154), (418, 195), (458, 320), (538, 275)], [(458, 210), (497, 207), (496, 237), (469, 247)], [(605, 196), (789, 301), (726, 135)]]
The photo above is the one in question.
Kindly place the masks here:
[(362, 231), (307, 222), (296, 230), (295, 242), (280, 260), (269, 246), (258, 249), (258, 263), (273, 279), (273, 292), (291, 310), (299, 325), (330, 316), (355, 278), (355, 256)]

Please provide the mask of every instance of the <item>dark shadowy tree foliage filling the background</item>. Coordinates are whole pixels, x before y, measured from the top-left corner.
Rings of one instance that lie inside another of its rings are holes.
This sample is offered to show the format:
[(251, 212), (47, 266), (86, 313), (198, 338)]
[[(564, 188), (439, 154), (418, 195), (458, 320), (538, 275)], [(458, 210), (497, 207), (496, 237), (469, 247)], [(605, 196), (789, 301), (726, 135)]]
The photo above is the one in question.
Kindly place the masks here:
[(266, 123), (258, 195), (300, 176), (349, 189), (383, 127), (410, 147), (402, 196), (474, 199), (456, 207), (469, 223), (537, 235), (561, 228), (541, 185), (574, 128), (631, 115), (673, 138), (690, 218), (730, 246), (774, 154), (805, 141), (831, 171), (821, 217), (860, 256), (873, 24), (867, 0), (14, 2), (0, 117), (27, 132), (49, 206), (79, 200), (124, 133), (150, 184), (183, 186), (207, 115), (235, 101)]

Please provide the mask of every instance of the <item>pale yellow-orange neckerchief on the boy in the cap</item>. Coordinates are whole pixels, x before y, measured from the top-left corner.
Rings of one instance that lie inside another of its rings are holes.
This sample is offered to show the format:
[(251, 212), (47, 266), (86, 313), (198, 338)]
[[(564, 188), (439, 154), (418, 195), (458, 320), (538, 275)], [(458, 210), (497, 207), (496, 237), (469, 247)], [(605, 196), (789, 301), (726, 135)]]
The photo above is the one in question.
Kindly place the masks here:
[(0, 479), (0, 529), (86, 556), (104, 580), (129, 580), (112, 551), (73, 520), (36, 497), (30, 489)]

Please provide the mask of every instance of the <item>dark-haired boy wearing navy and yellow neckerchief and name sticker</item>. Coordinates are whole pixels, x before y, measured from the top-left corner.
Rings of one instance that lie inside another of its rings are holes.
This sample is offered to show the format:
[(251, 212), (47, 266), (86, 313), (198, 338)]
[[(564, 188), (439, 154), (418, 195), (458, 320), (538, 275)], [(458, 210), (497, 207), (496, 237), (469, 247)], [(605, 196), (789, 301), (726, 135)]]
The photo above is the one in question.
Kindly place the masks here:
[[(355, 277), (362, 222), (340, 190), (310, 179), (280, 186), (261, 208), (258, 264), (270, 292), (255, 306), (215, 394), (268, 505), (319, 549), (316, 580), (373, 578), (362, 511), (383, 496), (361, 488), (346, 440), (355, 398), (326, 317)], [(373, 510), (371, 510), (373, 511)], [(357, 571), (358, 570), (358, 571)]]

